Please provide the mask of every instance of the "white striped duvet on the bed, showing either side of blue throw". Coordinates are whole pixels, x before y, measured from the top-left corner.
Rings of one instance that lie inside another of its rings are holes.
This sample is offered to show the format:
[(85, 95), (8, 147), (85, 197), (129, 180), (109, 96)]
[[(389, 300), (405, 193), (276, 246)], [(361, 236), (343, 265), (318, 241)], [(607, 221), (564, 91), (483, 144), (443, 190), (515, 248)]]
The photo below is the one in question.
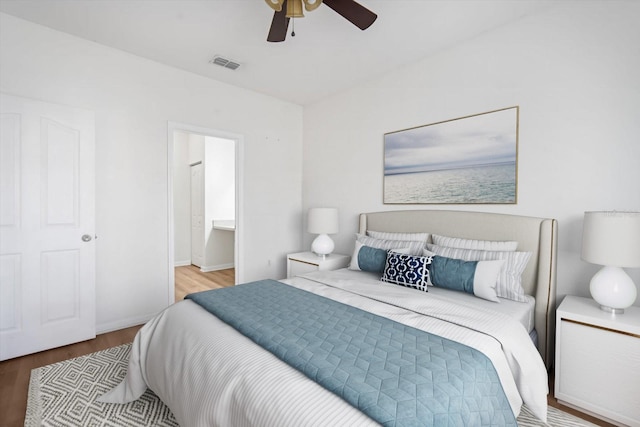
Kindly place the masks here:
[[(286, 283), (476, 348), (493, 362), (514, 414), (524, 402), (546, 421), (547, 372), (520, 322), (366, 275), (353, 277), (346, 270), (320, 271)], [(376, 425), (191, 300), (140, 329), (125, 379), (99, 400), (133, 401), (147, 387), (183, 427)]]

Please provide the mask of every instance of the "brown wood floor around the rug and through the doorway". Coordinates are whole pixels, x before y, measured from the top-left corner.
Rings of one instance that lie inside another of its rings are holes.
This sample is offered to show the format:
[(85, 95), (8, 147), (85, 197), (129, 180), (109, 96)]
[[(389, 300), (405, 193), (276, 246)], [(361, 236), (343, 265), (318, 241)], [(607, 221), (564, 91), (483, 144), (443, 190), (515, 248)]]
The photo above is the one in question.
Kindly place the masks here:
[[(178, 267), (175, 275), (176, 300), (182, 300), (184, 295), (190, 292), (232, 286), (234, 280), (233, 269), (202, 273), (194, 266)], [(24, 425), (27, 390), (32, 369), (129, 343), (133, 341), (133, 337), (140, 327), (141, 325), (133, 326), (98, 335), (93, 340), (0, 362), (0, 427), (22, 427)], [(553, 373), (549, 376), (549, 389), (551, 391), (548, 397), (549, 406), (556, 407), (599, 426), (613, 427), (613, 424), (559, 404), (553, 397)]]

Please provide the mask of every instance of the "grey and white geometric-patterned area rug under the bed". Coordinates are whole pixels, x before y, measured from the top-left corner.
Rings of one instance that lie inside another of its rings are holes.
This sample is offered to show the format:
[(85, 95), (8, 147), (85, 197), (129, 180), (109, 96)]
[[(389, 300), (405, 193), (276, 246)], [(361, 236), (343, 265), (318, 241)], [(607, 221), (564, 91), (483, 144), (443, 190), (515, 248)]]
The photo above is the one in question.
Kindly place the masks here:
[[(152, 391), (126, 405), (96, 402), (127, 373), (131, 344), (43, 366), (31, 371), (25, 427), (36, 426), (178, 426), (173, 414)], [(549, 407), (548, 424), (523, 408), (524, 427), (595, 426)]]

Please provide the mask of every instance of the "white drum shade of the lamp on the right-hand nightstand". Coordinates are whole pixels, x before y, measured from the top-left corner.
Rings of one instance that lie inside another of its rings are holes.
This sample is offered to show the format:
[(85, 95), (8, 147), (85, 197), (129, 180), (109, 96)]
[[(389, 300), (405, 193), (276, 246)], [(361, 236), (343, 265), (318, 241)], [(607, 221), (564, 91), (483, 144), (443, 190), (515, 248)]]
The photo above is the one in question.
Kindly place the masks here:
[(640, 212), (585, 212), (582, 259), (612, 267), (640, 267)]

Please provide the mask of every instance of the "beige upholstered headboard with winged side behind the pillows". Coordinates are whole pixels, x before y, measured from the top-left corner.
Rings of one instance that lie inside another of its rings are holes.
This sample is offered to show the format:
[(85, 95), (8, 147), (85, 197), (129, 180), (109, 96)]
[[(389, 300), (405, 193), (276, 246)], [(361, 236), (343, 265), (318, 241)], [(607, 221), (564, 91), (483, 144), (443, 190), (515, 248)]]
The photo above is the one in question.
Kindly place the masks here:
[(481, 240), (515, 240), (518, 251), (532, 252), (522, 274), (525, 292), (536, 299), (538, 350), (553, 361), (558, 223), (555, 219), (487, 212), (404, 210), (360, 214), (359, 232), (428, 232)]

